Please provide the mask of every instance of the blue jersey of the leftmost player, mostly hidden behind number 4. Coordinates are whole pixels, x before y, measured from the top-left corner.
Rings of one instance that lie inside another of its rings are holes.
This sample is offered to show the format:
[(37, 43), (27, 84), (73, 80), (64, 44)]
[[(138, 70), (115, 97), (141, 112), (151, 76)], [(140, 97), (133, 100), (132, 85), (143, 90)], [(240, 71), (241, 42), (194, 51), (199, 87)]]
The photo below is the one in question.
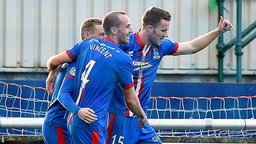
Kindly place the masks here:
[(66, 113), (66, 108), (62, 106), (59, 101), (57, 101), (57, 96), (59, 93), (60, 86), (65, 76), (69, 78), (75, 77), (75, 62), (70, 62), (66, 64), (62, 64), (62, 68), (59, 70), (59, 74), (57, 76), (54, 90), (53, 90), (53, 98), (46, 112), (46, 117), (44, 122), (48, 125), (66, 128), (66, 119), (64, 119), (64, 115)]

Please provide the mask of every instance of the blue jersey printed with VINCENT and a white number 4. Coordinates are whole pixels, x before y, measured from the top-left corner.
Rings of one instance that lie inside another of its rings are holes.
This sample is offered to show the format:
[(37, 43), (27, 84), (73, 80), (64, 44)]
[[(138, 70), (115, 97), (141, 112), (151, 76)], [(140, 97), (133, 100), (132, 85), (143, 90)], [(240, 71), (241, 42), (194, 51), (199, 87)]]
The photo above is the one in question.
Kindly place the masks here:
[(123, 88), (133, 87), (132, 59), (108, 37), (82, 41), (66, 53), (77, 61), (74, 101), (80, 107), (94, 110), (98, 118), (87, 124), (78, 115), (70, 114), (68, 122), (87, 130), (106, 130), (107, 106), (114, 89), (118, 83)]

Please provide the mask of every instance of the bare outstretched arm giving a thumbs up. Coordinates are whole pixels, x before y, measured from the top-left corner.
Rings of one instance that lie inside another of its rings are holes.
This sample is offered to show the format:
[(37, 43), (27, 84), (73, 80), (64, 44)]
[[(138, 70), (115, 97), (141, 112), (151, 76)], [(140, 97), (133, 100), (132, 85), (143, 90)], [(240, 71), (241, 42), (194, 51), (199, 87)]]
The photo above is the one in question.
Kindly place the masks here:
[(188, 55), (194, 54), (206, 48), (210, 43), (212, 43), (220, 34), (232, 30), (233, 25), (229, 20), (223, 20), (223, 17), (220, 17), (219, 26), (207, 34), (203, 34), (192, 41), (180, 42), (178, 50), (173, 55)]

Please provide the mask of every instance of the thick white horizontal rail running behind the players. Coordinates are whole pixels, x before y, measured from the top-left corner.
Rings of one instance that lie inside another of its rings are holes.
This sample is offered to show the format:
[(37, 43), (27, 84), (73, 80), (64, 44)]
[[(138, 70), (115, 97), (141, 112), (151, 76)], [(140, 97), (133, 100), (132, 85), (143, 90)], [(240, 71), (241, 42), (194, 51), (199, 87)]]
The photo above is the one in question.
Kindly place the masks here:
[[(0, 128), (41, 128), (44, 118), (0, 118)], [(255, 130), (256, 119), (148, 119), (155, 129)]]

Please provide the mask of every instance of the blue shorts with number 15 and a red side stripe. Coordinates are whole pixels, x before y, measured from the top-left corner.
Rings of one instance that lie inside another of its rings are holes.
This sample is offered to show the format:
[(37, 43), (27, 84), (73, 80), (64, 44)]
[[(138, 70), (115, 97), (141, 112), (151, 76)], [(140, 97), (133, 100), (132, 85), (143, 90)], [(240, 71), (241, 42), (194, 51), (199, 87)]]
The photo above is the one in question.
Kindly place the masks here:
[(139, 118), (110, 115), (107, 144), (161, 144), (159, 136), (148, 122), (144, 128), (139, 128)]

